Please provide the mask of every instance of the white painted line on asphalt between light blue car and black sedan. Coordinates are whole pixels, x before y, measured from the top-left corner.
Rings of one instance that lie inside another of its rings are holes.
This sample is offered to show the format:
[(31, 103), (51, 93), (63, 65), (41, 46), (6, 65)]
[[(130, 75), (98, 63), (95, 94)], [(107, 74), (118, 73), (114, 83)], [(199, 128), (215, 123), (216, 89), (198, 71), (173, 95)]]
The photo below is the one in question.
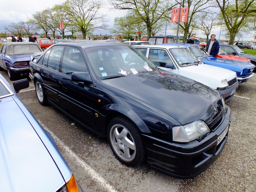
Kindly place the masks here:
[(81, 159), (78, 155), (76, 155), (68, 146), (66, 146), (66, 145), (65, 145), (53, 132), (51, 132), (44, 124), (42, 124), (41, 122), (39, 122), (39, 123), (44, 127), (44, 129), (45, 129), (46, 131), (48, 131), (48, 132), (52, 135), (53, 139), (54, 139), (58, 144), (60, 144), (62, 147), (64, 147), (64, 148), (66, 149), (66, 151), (77, 161), (77, 163), (81, 164), (82, 167), (84, 167), (84, 170), (87, 171), (87, 172), (91, 175), (91, 177), (92, 177), (93, 179), (95, 179), (96, 181), (99, 182), (99, 184), (100, 184), (103, 188), (107, 189), (109, 192), (117, 192), (117, 190), (116, 190), (114, 187), (112, 187), (111, 185), (109, 185), (109, 184), (107, 183), (107, 181), (106, 181), (103, 177), (101, 177), (101, 176), (99, 175), (99, 173), (97, 173), (94, 169), (92, 169), (92, 167), (91, 167), (90, 165), (88, 165), (87, 163), (85, 163), (85, 162), (83, 161), (83, 159)]

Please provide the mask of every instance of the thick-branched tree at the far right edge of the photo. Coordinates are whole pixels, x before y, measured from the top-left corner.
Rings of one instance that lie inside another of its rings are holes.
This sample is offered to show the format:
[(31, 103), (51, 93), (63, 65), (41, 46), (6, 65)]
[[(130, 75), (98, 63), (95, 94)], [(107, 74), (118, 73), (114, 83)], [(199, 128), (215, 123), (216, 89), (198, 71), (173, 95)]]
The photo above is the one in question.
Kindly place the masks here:
[(229, 44), (234, 44), (238, 32), (248, 27), (246, 21), (256, 12), (255, 0), (215, 1), (229, 33)]

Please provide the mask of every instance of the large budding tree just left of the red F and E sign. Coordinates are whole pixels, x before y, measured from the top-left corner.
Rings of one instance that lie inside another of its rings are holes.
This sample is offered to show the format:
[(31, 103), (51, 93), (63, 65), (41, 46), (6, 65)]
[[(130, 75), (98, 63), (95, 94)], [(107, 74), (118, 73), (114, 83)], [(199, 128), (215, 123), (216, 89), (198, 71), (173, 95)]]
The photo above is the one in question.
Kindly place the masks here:
[(173, 7), (166, 6), (164, 0), (109, 0), (114, 9), (128, 10), (136, 15), (139, 22), (144, 22), (147, 27), (148, 36), (152, 34), (153, 25), (160, 19), (166, 18), (166, 13)]

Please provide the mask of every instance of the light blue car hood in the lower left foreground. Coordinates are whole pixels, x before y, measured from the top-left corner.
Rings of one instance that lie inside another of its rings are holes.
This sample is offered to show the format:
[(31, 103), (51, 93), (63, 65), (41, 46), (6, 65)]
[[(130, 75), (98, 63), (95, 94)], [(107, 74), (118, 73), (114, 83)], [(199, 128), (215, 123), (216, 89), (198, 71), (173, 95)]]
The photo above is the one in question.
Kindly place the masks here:
[[(55, 191), (65, 181), (13, 97), (0, 102), (1, 191)], [(32, 120), (33, 121), (33, 120)]]

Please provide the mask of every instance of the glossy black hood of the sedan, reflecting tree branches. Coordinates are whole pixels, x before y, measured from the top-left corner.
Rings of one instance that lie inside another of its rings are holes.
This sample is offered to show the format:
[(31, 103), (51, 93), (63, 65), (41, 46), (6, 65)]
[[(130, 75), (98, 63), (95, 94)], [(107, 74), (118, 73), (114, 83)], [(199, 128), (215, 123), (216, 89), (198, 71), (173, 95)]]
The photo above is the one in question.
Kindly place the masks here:
[(198, 119), (209, 123), (223, 108), (218, 92), (173, 73), (152, 71), (101, 82), (158, 108), (181, 124)]

